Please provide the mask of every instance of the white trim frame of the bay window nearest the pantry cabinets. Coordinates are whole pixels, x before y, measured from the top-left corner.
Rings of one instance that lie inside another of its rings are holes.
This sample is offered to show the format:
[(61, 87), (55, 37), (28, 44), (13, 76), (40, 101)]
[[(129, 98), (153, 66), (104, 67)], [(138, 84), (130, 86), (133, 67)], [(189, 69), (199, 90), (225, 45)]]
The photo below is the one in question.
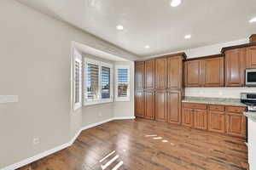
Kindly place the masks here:
[[(114, 89), (114, 101), (130, 101), (131, 100), (131, 65), (115, 65), (115, 89)], [(128, 96), (127, 97), (118, 97), (118, 70), (119, 69), (128, 69)]]

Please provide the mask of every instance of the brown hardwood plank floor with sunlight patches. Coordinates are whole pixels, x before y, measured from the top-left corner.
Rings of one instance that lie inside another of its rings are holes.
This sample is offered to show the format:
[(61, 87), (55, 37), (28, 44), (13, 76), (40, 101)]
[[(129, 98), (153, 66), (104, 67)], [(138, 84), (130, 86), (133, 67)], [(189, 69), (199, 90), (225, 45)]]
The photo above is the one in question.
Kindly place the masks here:
[(71, 147), (29, 167), (102, 170), (102, 165), (111, 160), (114, 161), (105, 170), (121, 161), (119, 170), (241, 170), (247, 169), (247, 146), (241, 139), (169, 123), (144, 119), (113, 121), (85, 130)]

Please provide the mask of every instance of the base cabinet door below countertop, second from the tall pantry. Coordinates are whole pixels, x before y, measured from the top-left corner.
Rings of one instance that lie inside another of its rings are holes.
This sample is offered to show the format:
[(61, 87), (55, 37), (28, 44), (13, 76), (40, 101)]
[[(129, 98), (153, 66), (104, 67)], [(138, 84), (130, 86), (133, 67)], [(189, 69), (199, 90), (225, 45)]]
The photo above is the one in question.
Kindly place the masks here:
[(194, 110), (194, 127), (207, 130), (207, 110)]

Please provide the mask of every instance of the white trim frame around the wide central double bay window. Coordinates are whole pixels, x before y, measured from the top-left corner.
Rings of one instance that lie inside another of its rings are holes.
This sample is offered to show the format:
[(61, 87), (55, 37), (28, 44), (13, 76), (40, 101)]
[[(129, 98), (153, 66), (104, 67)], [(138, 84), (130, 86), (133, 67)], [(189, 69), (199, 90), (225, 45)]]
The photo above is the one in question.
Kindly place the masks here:
[[(98, 65), (99, 66), (99, 96), (98, 99), (93, 100), (87, 100), (87, 83), (86, 83), (86, 77), (87, 77), (87, 64), (92, 65)], [(106, 66), (110, 68), (110, 99), (102, 99), (102, 66)], [(95, 59), (88, 59), (84, 58), (84, 106), (87, 105), (98, 105), (98, 104), (104, 104), (104, 103), (111, 103), (113, 102), (113, 65), (104, 63), (102, 61), (98, 61)]]

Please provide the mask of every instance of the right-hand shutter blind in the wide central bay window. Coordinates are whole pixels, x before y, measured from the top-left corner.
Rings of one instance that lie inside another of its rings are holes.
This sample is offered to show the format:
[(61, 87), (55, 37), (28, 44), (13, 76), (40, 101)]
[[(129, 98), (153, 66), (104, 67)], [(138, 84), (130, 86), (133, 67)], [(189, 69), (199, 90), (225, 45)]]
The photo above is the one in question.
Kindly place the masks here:
[(110, 68), (102, 66), (102, 99), (110, 98)]

